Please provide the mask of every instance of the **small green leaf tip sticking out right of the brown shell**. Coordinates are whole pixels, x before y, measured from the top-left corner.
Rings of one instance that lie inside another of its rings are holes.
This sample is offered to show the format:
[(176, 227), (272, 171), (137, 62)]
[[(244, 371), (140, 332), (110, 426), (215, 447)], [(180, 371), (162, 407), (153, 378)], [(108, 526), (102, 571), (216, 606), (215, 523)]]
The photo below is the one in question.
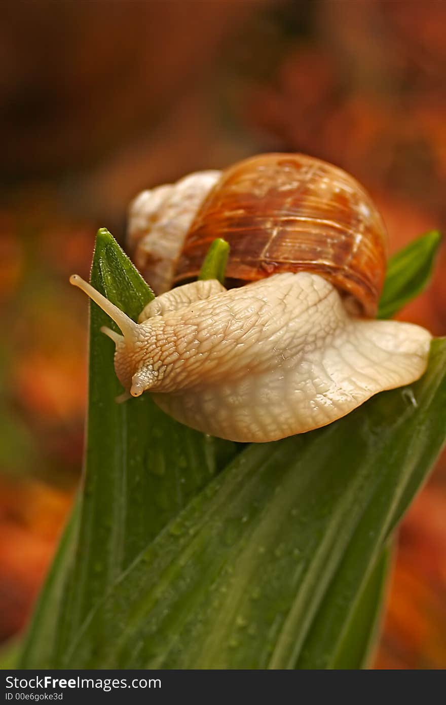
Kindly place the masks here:
[(392, 317), (426, 288), (440, 243), (440, 233), (433, 230), (390, 258), (378, 318)]

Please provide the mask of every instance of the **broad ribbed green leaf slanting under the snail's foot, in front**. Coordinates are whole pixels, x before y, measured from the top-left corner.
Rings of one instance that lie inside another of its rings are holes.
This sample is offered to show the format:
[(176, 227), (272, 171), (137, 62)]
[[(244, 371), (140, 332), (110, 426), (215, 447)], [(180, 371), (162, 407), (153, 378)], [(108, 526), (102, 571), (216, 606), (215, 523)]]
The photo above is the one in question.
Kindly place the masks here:
[(416, 384), (245, 448), (117, 578), (57, 665), (330, 667), (445, 441), (445, 370), (442, 339)]

